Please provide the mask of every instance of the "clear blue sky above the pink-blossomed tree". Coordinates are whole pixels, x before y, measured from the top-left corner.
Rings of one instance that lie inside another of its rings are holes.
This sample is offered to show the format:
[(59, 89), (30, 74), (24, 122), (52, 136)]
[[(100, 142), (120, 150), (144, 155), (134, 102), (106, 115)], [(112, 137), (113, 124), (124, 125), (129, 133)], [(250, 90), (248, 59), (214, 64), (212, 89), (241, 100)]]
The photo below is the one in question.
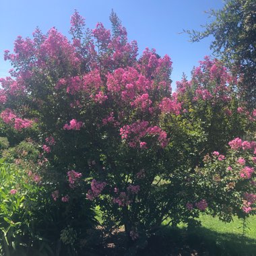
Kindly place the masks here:
[(12, 51), (18, 35), (30, 37), (36, 26), (43, 32), (55, 26), (69, 36), (74, 9), (86, 18), (89, 28), (95, 28), (97, 22), (110, 28), (108, 16), (113, 8), (127, 28), (129, 40), (137, 40), (139, 53), (149, 47), (171, 57), (171, 78), (176, 82), (183, 72), (189, 76), (192, 67), (211, 54), (211, 38), (192, 44), (187, 34), (179, 33), (200, 29), (200, 25), (210, 22), (204, 11), (222, 6), (222, 0), (1, 0), (0, 77), (8, 75), (11, 68), (3, 61), (3, 51)]

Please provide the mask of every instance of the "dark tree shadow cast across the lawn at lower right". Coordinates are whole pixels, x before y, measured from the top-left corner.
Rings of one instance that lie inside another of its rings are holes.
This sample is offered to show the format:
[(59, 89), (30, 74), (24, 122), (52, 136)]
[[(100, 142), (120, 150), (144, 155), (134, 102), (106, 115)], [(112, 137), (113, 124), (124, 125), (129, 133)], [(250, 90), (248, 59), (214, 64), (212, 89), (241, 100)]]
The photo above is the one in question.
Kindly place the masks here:
[(192, 231), (166, 228), (154, 234), (148, 247), (138, 251), (137, 255), (256, 256), (256, 240), (204, 227)]

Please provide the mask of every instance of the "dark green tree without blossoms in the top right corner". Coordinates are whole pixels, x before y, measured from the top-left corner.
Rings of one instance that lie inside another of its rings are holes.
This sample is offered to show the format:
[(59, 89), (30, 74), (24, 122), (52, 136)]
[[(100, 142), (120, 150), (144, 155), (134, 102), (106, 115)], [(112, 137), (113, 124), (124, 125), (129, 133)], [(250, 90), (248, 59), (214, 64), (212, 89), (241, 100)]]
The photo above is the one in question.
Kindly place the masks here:
[(211, 49), (243, 79), (239, 84), (249, 107), (256, 104), (256, 2), (226, 0), (222, 9), (210, 10), (215, 20), (203, 32), (187, 31), (193, 42), (214, 36)]

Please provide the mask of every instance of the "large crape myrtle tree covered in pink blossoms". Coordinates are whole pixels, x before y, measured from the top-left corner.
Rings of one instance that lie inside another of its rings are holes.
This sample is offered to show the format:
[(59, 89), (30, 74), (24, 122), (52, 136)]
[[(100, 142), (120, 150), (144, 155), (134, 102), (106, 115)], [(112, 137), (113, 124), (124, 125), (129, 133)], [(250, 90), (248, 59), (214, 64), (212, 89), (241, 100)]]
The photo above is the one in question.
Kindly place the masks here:
[[(41, 154), (32, 172), (49, 185), (53, 203), (99, 205), (103, 226), (124, 225), (130, 245), (163, 220), (189, 223), (205, 210), (224, 220), (245, 215), (244, 194), (254, 198), (254, 142), (246, 141), (251, 151), (243, 156), (250, 175), (236, 166), (234, 177), (223, 165), (220, 181), (230, 176), (219, 186), (224, 196), (210, 186), (228, 141), (254, 127), (255, 110), (239, 98), (236, 76), (205, 57), (172, 93), (170, 57), (146, 49), (137, 58), (137, 42), (127, 42), (114, 12), (110, 22), (112, 33), (101, 23), (89, 30), (75, 11), (71, 41), (55, 28), (36, 29), (33, 38), (15, 40), (14, 53), (5, 51), (13, 70), (1, 79), (1, 119), (20, 133), (37, 131)], [(243, 185), (225, 194), (233, 179)]]

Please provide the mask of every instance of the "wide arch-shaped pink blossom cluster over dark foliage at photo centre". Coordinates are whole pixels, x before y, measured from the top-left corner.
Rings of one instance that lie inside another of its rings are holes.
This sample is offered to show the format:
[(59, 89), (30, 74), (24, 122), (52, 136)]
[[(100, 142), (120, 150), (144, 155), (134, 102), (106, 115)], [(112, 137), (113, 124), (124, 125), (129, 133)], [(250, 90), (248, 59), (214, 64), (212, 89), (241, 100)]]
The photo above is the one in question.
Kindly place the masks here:
[(158, 126), (149, 127), (148, 121), (137, 121), (131, 125), (125, 125), (120, 129), (120, 135), (122, 139), (127, 139), (129, 141), (129, 146), (131, 148), (135, 148), (138, 143), (141, 148), (145, 148), (146, 144), (141, 144), (140, 140), (146, 135), (156, 135), (162, 148), (165, 148), (168, 144), (167, 133), (162, 131)]

